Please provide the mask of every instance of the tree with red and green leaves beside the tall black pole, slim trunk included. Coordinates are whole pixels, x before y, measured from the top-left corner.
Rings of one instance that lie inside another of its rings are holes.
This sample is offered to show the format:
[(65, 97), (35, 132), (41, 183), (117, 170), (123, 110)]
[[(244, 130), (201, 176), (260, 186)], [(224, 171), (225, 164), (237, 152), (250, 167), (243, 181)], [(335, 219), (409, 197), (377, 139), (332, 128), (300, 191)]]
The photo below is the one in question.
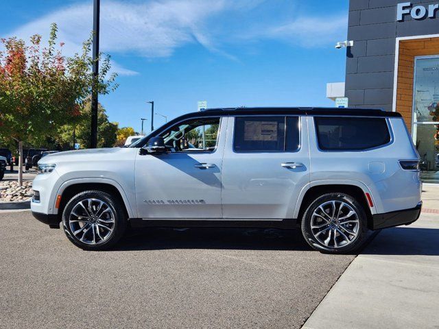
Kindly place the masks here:
[(81, 121), (80, 110), (91, 95), (93, 84), (99, 94), (114, 88), (116, 75), (110, 75), (110, 57), (99, 56), (99, 76), (92, 74), (92, 38), (82, 45), (82, 53), (67, 58), (63, 43), (57, 45), (57, 26), (51, 25), (47, 47), (41, 36), (29, 45), (17, 38), (1, 39), (0, 51), (0, 136), (9, 145), (19, 145), (19, 182), (22, 182), (23, 142), (40, 145), (55, 136), (60, 125)]

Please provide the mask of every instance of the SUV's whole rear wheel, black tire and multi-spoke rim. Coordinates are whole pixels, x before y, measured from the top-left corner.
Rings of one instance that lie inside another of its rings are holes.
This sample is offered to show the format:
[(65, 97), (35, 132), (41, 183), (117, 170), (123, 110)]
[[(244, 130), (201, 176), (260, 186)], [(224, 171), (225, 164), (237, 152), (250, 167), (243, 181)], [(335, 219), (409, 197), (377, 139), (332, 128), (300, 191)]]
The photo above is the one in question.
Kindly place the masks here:
[(368, 232), (363, 206), (344, 193), (315, 199), (302, 219), (302, 234), (311, 247), (331, 254), (357, 251)]

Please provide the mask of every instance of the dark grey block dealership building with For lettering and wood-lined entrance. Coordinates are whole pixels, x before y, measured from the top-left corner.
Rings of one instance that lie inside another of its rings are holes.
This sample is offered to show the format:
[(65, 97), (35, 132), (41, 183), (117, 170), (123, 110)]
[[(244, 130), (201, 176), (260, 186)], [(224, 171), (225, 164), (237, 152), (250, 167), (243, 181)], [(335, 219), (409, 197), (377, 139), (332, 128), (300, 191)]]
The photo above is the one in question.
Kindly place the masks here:
[(404, 117), (425, 182), (439, 182), (439, 0), (351, 0), (346, 80), (328, 97)]

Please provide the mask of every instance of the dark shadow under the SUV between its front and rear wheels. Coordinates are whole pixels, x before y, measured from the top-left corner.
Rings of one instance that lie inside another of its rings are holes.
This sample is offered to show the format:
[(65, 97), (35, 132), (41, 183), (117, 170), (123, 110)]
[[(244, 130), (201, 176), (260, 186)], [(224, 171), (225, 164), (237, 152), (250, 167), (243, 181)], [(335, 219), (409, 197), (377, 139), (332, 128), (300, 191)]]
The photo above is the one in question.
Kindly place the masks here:
[(300, 230), (248, 228), (142, 228), (128, 232), (114, 250), (157, 249), (312, 250)]

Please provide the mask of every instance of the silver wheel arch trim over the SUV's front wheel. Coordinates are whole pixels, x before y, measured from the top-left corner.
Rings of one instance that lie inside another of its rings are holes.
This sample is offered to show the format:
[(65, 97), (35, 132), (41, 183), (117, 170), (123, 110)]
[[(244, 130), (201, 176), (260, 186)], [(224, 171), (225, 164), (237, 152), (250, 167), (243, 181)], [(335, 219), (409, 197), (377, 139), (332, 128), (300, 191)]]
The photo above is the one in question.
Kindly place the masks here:
[(69, 202), (69, 199), (73, 197), (73, 195), (88, 190), (104, 191), (110, 193), (111, 195), (115, 195), (115, 197), (120, 200), (121, 204), (125, 208), (128, 218), (136, 217), (130, 204), (130, 200), (126, 196), (125, 191), (123, 191), (123, 188), (119, 184), (117, 184), (117, 182), (107, 179), (80, 179), (64, 182), (64, 184), (62, 184), (58, 189), (57, 193), (57, 195), (61, 195), (60, 206), (58, 210), (54, 207), (54, 210), (57, 211), (56, 213), (58, 213), (58, 215), (62, 215), (64, 207), (66, 206), (67, 202)]

